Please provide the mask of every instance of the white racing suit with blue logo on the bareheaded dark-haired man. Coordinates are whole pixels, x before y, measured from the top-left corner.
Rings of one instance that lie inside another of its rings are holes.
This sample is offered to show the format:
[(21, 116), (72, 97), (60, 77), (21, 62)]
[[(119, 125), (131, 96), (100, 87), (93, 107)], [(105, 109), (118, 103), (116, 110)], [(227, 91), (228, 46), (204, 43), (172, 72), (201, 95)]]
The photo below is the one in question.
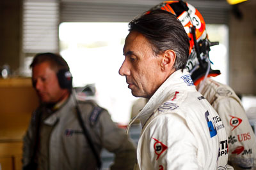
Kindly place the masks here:
[(227, 169), (225, 127), (187, 71), (164, 81), (136, 118), (143, 129), (134, 169)]

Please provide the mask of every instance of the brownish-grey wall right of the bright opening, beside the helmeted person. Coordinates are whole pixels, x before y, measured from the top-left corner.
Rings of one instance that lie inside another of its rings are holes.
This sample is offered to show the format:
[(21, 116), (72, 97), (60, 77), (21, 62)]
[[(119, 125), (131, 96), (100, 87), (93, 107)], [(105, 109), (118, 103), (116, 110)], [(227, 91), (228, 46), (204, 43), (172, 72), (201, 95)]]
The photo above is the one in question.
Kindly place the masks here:
[(256, 96), (256, 1), (238, 8), (241, 20), (230, 13), (229, 85), (239, 94)]

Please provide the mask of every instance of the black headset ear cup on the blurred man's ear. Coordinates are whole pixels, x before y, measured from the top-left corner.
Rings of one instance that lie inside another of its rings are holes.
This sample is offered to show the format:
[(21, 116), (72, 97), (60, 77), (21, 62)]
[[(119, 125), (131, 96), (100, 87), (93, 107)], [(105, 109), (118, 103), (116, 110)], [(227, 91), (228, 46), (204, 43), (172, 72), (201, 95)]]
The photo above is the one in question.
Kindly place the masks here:
[(72, 74), (68, 69), (60, 69), (57, 78), (61, 89), (72, 89)]

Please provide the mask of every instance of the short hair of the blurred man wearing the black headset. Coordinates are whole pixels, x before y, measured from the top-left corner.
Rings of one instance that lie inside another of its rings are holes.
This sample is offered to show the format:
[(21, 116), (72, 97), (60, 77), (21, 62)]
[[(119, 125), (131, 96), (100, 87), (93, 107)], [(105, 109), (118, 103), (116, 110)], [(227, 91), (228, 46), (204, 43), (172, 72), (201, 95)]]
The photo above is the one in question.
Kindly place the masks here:
[(30, 67), (33, 68), (42, 62), (49, 62), (51, 69), (56, 71), (56, 73), (60, 69), (69, 70), (67, 62), (61, 57), (61, 55), (56, 53), (37, 53), (30, 64)]

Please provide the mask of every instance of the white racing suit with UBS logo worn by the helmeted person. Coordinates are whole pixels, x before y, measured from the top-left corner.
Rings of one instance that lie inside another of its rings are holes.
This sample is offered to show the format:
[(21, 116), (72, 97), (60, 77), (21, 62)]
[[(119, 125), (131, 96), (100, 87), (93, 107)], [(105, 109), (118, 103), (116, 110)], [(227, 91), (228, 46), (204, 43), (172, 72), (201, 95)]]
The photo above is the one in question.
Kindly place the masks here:
[(211, 78), (201, 81), (196, 88), (199, 87), (225, 125), (228, 136), (228, 164), (234, 169), (256, 169), (255, 134), (239, 97), (230, 87)]

